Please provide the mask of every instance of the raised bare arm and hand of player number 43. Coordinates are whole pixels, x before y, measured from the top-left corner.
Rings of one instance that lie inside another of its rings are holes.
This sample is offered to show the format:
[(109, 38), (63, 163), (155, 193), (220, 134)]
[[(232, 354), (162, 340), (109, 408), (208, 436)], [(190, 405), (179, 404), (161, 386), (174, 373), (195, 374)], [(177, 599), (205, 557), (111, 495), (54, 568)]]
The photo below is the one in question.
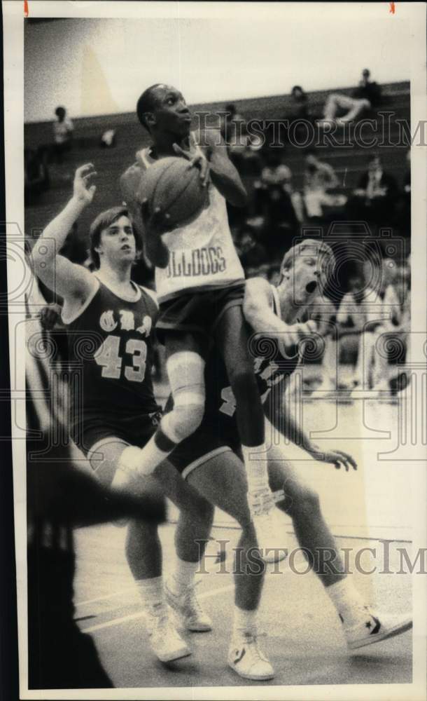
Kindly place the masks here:
[(94, 175), (96, 172), (92, 163), (76, 170), (71, 200), (46, 226), (32, 250), (34, 272), (52, 292), (60, 294), (64, 299), (85, 299), (95, 284), (92, 275), (83, 266), (71, 263), (58, 254), (74, 222), (92, 202), (96, 186), (90, 183)]

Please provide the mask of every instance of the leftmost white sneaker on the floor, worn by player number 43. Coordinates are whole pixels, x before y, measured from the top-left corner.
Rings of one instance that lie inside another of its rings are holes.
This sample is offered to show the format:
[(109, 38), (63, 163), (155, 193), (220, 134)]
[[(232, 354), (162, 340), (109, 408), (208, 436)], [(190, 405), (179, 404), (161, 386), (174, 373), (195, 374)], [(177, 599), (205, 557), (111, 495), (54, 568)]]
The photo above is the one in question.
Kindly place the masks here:
[(146, 613), (150, 646), (161, 662), (180, 660), (191, 654), (186, 641), (176, 631), (164, 604), (160, 604), (156, 613)]

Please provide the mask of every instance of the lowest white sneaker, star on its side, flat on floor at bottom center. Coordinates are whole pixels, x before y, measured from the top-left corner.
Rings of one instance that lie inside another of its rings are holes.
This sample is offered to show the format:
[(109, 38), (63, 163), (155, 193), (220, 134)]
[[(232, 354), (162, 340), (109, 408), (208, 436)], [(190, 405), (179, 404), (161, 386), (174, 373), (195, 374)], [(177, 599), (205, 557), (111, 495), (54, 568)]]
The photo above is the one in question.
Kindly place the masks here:
[(274, 678), (274, 669), (258, 648), (256, 635), (246, 633), (232, 639), (228, 650), (228, 665), (244, 679), (264, 681)]

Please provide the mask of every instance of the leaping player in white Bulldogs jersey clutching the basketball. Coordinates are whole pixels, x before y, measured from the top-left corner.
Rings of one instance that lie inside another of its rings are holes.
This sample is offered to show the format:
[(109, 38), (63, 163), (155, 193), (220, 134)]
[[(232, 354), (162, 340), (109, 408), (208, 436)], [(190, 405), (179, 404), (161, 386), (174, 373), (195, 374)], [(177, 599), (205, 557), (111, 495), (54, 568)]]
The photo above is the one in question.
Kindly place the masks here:
[[(152, 145), (121, 178), (127, 206), (144, 229), (146, 253), (155, 268), (160, 301), (157, 328), (165, 338), (166, 367), (174, 406), (142, 450), (123, 454), (125, 468), (150, 474), (200, 426), (204, 414), (204, 366), (209, 342), (218, 346), (237, 402), (237, 426), (248, 477), (248, 498), (260, 545), (274, 543), (270, 522), (274, 497), (265, 463), (262, 406), (241, 309), (244, 272), (232, 242), (225, 200), (245, 203), (246, 192), (217, 132), (190, 131), (191, 114), (176, 88), (151, 86), (137, 104)], [(200, 168), (207, 206), (200, 215), (167, 231), (167, 212), (141, 207), (144, 172), (166, 156), (182, 156)], [(141, 220), (142, 213), (142, 220)]]

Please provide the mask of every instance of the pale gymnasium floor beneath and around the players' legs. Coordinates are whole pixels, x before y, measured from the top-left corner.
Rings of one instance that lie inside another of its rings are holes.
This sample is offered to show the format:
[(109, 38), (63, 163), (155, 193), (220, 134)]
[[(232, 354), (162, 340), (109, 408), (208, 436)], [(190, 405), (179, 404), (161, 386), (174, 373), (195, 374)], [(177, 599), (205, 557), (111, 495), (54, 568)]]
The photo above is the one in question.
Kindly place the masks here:
[[(353, 574), (360, 592), (378, 611), (403, 613), (412, 608), (411, 577), (396, 576), (401, 557), (411, 557), (411, 479), (407, 463), (379, 459), (398, 444), (398, 404), (391, 402), (339, 403), (309, 400), (303, 404), (304, 426), (318, 432), (316, 442), (342, 447), (358, 461), (357, 472), (336, 470), (332, 465), (305, 459), (297, 448), (288, 456), (321, 495), (326, 520), (340, 548), (350, 548), (350, 562), (360, 549), (370, 547), (360, 559), (372, 575)], [(323, 433), (322, 433), (323, 432)], [(326, 433), (324, 433), (326, 432)], [(362, 436), (363, 440), (357, 438)], [(399, 451), (395, 455), (398, 456)], [(387, 455), (389, 458), (390, 455)], [(383, 456), (384, 458), (384, 456)], [(176, 512), (160, 529), (167, 575), (173, 562)], [(162, 665), (148, 646), (141, 605), (132, 585), (124, 555), (125, 529), (109, 524), (76, 532), (76, 620), (90, 633), (99, 658), (116, 688), (183, 686), (254, 686), (260, 682), (241, 679), (228, 668), (226, 659), (232, 625), (233, 585), (230, 573), (237, 526), (218, 512), (208, 553), (215, 555), (218, 540), (230, 540), (225, 562), (209, 557), (208, 573), (200, 574), (198, 594), (214, 621), (209, 633), (188, 634), (192, 655)], [(391, 573), (380, 573), (384, 564), (384, 541), (388, 542)], [(283, 517), (283, 546), (296, 547), (290, 520)], [(221, 571), (221, 568), (223, 571)], [(362, 648), (346, 651), (339, 619), (323, 587), (305, 570), (302, 554), (294, 553), (279, 564), (269, 565), (260, 609), (262, 648), (276, 670), (274, 680), (263, 685), (409, 683), (412, 681), (411, 632)], [(406, 569), (407, 571), (407, 569)]]

